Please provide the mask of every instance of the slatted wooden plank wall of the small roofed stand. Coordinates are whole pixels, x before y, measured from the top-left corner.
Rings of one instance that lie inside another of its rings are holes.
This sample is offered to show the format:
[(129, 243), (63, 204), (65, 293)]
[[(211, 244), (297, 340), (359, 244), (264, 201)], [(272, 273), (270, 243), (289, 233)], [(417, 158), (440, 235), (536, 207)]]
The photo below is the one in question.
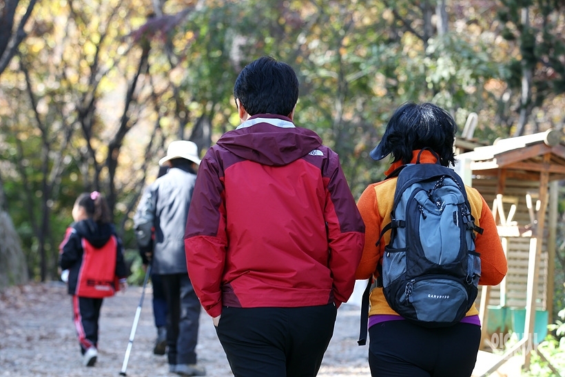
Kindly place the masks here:
[[(495, 199), (496, 194), (497, 179), (495, 177), (473, 177), (473, 187), (475, 187), (484, 197), (486, 203), (491, 207)], [(515, 179), (506, 179), (506, 188), (504, 190), (504, 197), (513, 196), (517, 198), (518, 205), (516, 214), (513, 217), (514, 221), (517, 221), (517, 225), (526, 226), (530, 223), (530, 216), (528, 214), (528, 208), (526, 206), (526, 194), (529, 192), (535, 194), (539, 192), (540, 184), (538, 181), (518, 181)], [(533, 198), (533, 204), (535, 205), (535, 198)], [(504, 204), (506, 215), (509, 212), (510, 204)], [(546, 214), (547, 216), (547, 214)], [(546, 217), (547, 219), (547, 217)], [(497, 222), (498, 224), (498, 222)], [(548, 221), (546, 221), (546, 231), (544, 234), (548, 234), (547, 227)], [(540, 261), (540, 278), (537, 289), (537, 308), (546, 310), (546, 298), (547, 298), (547, 246), (546, 240), (547, 236), (544, 236), (544, 244), (542, 246), (542, 257)], [(501, 301), (500, 292), (501, 285), (497, 285), (491, 289), (491, 298), (489, 300), (489, 305), (502, 305), (506, 307), (516, 307), (524, 308), (526, 307), (526, 287), (528, 282), (528, 254), (530, 249), (530, 238), (524, 237), (512, 237), (507, 238), (508, 241), (508, 261), (509, 261), (509, 272), (506, 274), (505, 280), (502, 282), (502, 292), (506, 292), (504, 298)], [(477, 306), (480, 304), (480, 292), (477, 297)]]

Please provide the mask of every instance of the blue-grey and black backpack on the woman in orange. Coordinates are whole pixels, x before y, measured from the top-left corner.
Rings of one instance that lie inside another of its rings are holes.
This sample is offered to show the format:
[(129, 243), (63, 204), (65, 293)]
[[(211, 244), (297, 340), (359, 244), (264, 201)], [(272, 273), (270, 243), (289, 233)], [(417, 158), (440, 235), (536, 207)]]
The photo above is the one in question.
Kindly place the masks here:
[[(380, 234), (390, 230), (391, 241), (376, 286), (407, 320), (424, 327), (454, 325), (477, 298), (481, 263), (475, 232), (482, 229), (475, 225), (460, 176), (449, 167), (420, 163), (418, 156), (415, 164), (391, 174), (396, 175), (391, 223)], [(360, 345), (367, 336), (370, 290), (368, 285), (362, 298)]]

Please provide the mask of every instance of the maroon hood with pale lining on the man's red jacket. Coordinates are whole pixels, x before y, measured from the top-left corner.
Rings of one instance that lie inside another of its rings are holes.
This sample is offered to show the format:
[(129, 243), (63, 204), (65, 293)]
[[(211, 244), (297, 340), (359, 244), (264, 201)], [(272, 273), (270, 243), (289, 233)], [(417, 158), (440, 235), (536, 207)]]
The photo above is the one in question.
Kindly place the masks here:
[(217, 144), (242, 159), (282, 166), (316, 150), (322, 139), (312, 130), (295, 127), (286, 116), (258, 114), (223, 134)]

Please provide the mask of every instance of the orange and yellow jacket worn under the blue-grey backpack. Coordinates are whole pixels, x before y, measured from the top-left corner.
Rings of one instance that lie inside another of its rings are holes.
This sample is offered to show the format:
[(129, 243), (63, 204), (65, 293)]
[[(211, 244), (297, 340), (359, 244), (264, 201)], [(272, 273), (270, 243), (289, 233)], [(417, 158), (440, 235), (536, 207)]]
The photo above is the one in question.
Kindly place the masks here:
[[(411, 163), (415, 163), (419, 150), (413, 151)], [(429, 151), (424, 151), (420, 157), (421, 163), (435, 163), (436, 159)], [(400, 161), (393, 163), (385, 175), (391, 174), (393, 170), (402, 165)], [(385, 179), (378, 183), (372, 183), (361, 194), (357, 207), (365, 223), (365, 245), (360, 264), (356, 271), (356, 279), (364, 280), (374, 276), (378, 277), (377, 265), (382, 259), (384, 245), (390, 241), (390, 232), (382, 237), (380, 244), (376, 243), (384, 225), (391, 221), (394, 192), (396, 189), (396, 178)], [(502, 243), (496, 229), (496, 224), (489, 205), (486, 204), (481, 194), (473, 187), (466, 186), (467, 196), (471, 204), (471, 214), (475, 217), (475, 224), (482, 227), (484, 232), (477, 234), (475, 249), (480, 253), (481, 277), (480, 285), (497, 285), (506, 275), (508, 265), (506, 256), (502, 250)], [(382, 294), (382, 287), (371, 291), (371, 309), (369, 316), (375, 314), (397, 314), (391, 309)], [(466, 316), (478, 314), (473, 304)], [(397, 314), (398, 315), (398, 314)]]

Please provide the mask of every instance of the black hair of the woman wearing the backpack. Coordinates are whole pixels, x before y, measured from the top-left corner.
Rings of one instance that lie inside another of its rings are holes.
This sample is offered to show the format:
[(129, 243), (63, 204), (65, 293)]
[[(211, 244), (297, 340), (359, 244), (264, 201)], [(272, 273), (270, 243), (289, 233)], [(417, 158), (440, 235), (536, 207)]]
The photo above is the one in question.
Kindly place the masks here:
[(440, 156), (442, 165), (455, 165), (453, 143), (457, 130), (451, 114), (437, 105), (407, 102), (391, 116), (382, 136), (382, 151), (390, 152), (394, 162), (410, 163), (413, 150), (429, 147)]

